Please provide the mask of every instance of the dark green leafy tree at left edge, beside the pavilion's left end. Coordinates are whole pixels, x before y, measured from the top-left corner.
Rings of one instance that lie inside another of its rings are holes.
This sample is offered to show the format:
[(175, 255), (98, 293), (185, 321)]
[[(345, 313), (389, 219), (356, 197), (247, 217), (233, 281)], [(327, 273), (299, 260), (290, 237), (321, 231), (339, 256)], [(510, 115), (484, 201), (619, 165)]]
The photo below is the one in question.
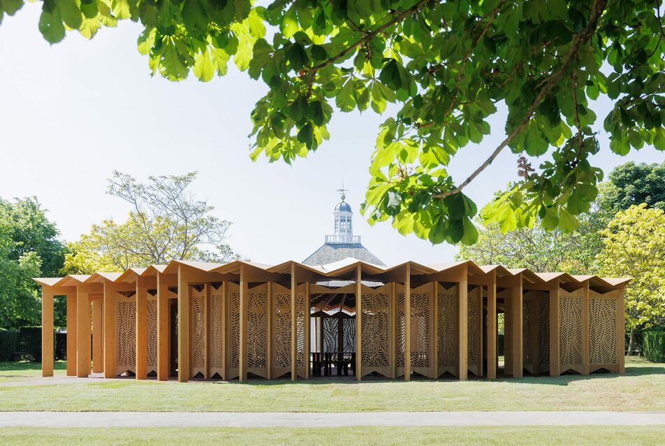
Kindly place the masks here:
[[(54, 277), (65, 247), (36, 198), (0, 199), (0, 326), (41, 324), (41, 299), (35, 277)], [(54, 303), (54, 324), (64, 325), (63, 301)]]

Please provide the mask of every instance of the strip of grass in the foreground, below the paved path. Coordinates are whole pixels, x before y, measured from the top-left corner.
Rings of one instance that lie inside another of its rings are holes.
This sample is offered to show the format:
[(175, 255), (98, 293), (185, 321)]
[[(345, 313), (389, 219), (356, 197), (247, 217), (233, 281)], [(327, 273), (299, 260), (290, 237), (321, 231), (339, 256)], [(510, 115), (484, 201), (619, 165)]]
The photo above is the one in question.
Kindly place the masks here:
[(0, 429), (3, 445), (659, 445), (665, 426)]

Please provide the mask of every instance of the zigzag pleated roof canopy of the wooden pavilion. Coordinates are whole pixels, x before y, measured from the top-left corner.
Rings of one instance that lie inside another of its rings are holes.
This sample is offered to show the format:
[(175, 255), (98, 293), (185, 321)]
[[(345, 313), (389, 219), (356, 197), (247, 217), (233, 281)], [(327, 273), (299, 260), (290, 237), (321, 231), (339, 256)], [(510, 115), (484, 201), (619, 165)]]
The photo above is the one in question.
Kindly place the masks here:
[[(601, 278), (597, 275), (570, 275), (568, 273), (534, 273), (527, 268), (505, 268), (501, 265), (478, 266), (473, 261), (454, 261), (443, 264), (423, 265), (415, 261), (407, 261), (393, 266), (379, 266), (350, 257), (327, 265), (305, 265), (298, 261), (285, 261), (277, 265), (258, 264), (251, 261), (234, 260), (226, 264), (205, 261), (172, 260), (168, 265), (150, 265), (147, 268), (129, 268), (123, 273), (99, 272), (93, 275), (71, 274), (64, 278), (35, 278), (34, 280), (47, 287), (71, 287), (82, 284), (94, 284), (104, 281), (133, 282), (138, 277), (153, 276), (158, 273), (177, 274), (178, 266), (184, 265), (200, 273), (217, 273), (220, 275), (240, 277), (240, 271), (249, 274), (251, 281), (277, 281), (286, 278), (295, 268), (298, 281), (325, 282), (330, 280), (356, 280), (358, 267), (363, 271), (363, 280), (392, 281), (406, 274), (407, 266), (411, 275), (422, 275), (437, 280), (437, 273), (466, 266), (469, 275), (485, 275), (495, 271), (497, 277), (510, 278), (521, 274), (525, 283), (543, 284), (551, 280), (559, 280), (570, 286), (583, 285), (588, 281), (590, 286), (604, 289), (624, 287), (631, 278)], [(226, 279), (225, 279), (226, 280)]]

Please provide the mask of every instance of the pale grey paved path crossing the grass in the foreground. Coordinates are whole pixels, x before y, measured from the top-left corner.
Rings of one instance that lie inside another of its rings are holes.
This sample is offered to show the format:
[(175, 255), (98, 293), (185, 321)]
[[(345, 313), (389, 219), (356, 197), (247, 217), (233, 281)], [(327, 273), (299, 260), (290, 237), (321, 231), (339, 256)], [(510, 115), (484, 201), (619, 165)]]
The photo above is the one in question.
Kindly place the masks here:
[(665, 425), (665, 412), (0, 412), (0, 427), (574, 425)]

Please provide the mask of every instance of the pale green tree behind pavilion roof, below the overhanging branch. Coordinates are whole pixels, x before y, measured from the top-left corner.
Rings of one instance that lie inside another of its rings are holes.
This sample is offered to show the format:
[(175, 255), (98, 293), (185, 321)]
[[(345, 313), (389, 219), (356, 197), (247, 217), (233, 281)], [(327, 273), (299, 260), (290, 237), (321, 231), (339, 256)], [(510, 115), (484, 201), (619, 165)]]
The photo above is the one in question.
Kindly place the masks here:
[(483, 265), (509, 265), (535, 272), (565, 271), (587, 274), (596, 267), (596, 255), (603, 243), (599, 231), (606, 220), (598, 212), (583, 215), (580, 226), (571, 233), (560, 229), (546, 231), (541, 226), (502, 231), (498, 223), (476, 218), (480, 227), (478, 241), (461, 245), (458, 260), (473, 259)]

